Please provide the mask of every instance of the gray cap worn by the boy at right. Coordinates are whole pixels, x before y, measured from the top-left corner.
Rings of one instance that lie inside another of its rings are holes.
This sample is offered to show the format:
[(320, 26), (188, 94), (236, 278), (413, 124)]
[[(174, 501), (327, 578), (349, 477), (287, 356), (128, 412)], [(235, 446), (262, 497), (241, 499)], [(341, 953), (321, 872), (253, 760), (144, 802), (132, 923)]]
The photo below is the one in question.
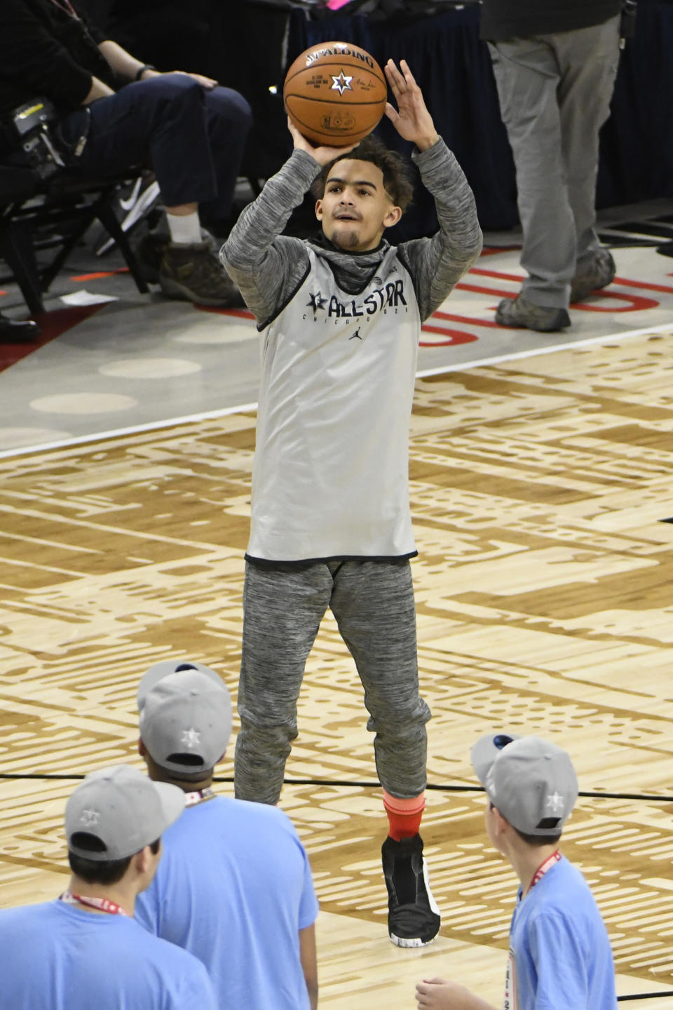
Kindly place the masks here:
[(471, 752), (486, 795), (525, 834), (556, 835), (578, 794), (577, 776), (561, 747), (538, 736), (488, 733)]

